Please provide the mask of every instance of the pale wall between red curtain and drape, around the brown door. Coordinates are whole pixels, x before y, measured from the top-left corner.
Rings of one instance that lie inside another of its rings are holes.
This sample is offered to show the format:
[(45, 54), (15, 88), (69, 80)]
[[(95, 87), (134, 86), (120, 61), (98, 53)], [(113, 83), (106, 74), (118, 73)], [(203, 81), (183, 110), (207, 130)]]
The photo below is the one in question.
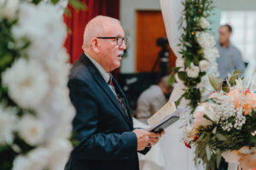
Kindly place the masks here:
[(129, 38), (127, 55), (122, 59), (121, 73), (136, 71), (137, 10), (160, 10), (160, 2), (159, 0), (120, 0), (120, 20)]

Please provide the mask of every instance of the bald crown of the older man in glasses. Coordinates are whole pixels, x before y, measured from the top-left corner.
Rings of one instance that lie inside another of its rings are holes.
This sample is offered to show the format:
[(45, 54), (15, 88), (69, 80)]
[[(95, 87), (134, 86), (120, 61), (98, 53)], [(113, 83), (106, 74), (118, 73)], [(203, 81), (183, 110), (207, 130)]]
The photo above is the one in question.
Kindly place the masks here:
[(120, 21), (108, 16), (98, 15), (90, 20), (84, 29), (83, 49), (90, 47), (90, 41), (93, 37), (101, 37), (108, 31), (110, 25), (120, 25)]

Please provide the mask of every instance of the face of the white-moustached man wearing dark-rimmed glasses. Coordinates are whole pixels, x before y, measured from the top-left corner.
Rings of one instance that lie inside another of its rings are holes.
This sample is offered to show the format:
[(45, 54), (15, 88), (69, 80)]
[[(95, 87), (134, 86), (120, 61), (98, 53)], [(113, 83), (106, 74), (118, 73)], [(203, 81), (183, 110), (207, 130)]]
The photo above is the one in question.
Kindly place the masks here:
[[(106, 25), (102, 37), (125, 37), (125, 32), (118, 23)], [(98, 39), (102, 66), (106, 71), (113, 71), (121, 65), (121, 56), (126, 48), (125, 41), (119, 46), (117, 39)]]

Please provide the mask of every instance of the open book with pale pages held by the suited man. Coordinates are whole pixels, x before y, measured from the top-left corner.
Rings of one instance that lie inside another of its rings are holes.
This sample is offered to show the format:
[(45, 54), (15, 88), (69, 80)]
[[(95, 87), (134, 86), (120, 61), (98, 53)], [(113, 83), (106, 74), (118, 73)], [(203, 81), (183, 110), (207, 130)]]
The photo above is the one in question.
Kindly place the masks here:
[(176, 108), (174, 102), (169, 101), (159, 111), (154, 113), (153, 116), (148, 118), (149, 132), (160, 133), (166, 127), (172, 125), (179, 119), (182, 108)]

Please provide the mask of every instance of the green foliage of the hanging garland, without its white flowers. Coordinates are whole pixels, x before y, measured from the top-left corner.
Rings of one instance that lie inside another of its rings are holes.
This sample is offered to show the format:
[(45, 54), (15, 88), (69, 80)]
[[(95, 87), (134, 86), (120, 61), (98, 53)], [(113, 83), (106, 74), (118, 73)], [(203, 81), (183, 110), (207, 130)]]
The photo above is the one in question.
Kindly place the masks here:
[[(207, 18), (210, 15), (213, 7), (212, 0), (185, 0), (183, 7), (183, 16), (179, 22), (180, 29), (183, 30), (183, 33), (179, 39), (178, 45), (181, 47), (180, 54), (182, 54), (184, 65), (182, 67), (174, 67), (172, 74), (177, 73), (177, 77), (182, 80), (187, 87), (184, 89), (184, 94), (180, 99), (188, 99), (189, 106), (192, 108), (192, 111), (194, 111), (198, 103), (201, 102), (201, 90), (198, 88), (198, 84), (207, 72), (199, 71), (198, 76), (189, 77), (188, 69), (191, 67), (191, 63), (193, 63), (195, 67), (199, 67), (200, 61), (206, 59), (203, 48), (197, 40), (197, 32), (209, 31), (208, 28), (200, 26), (200, 22), (202, 18)], [(173, 82), (173, 76), (171, 82)], [(178, 99), (178, 101), (180, 99)]]

